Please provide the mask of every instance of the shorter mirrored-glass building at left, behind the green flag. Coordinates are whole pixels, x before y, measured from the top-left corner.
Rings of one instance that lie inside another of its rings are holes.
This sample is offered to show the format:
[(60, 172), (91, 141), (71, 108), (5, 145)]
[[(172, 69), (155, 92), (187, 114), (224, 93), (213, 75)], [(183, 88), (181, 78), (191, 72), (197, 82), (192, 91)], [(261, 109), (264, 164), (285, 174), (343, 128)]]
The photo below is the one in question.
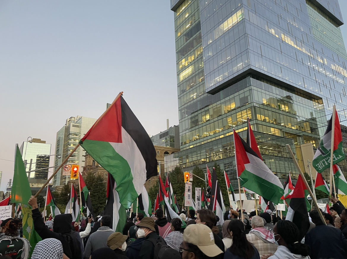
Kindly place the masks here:
[[(37, 170), (30, 173), (29, 182), (47, 180), (51, 144), (41, 139), (32, 139), (31, 141), (24, 141), (19, 150), (22, 153), (26, 171)], [(46, 169), (38, 170), (41, 168)]]

